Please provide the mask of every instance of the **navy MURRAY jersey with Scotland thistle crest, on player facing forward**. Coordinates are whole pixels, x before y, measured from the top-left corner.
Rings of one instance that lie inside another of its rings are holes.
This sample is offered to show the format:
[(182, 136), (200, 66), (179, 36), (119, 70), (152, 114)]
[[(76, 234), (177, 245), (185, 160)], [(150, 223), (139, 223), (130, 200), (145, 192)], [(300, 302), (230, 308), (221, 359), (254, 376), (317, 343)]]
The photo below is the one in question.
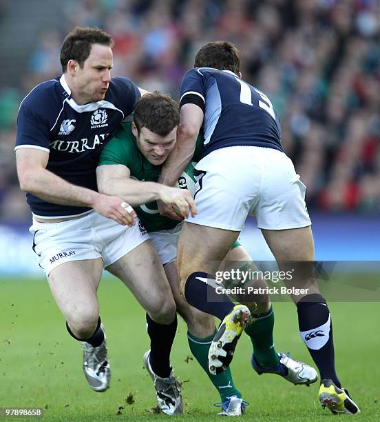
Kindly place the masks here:
[[(139, 98), (135, 83), (124, 77), (111, 79), (104, 100), (83, 106), (71, 98), (64, 75), (43, 82), (21, 102), (15, 150), (49, 152), (47, 170), (74, 185), (97, 190), (96, 167), (101, 151)], [(38, 217), (69, 217), (91, 210), (49, 203), (28, 193), (26, 197)]]

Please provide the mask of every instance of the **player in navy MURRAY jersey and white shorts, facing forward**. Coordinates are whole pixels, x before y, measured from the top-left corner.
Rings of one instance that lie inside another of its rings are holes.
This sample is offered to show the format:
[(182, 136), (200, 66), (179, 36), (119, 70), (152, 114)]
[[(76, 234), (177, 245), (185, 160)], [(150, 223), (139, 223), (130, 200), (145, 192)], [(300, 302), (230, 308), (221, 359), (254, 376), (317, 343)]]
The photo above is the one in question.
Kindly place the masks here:
[[(174, 338), (177, 324), (176, 304), (145, 228), (123, 199), (96, 188), (101, 150), (146, 93), (125, 77), (111, 79), (112, 46), (98, 28), (67, 35), (63, 75), (23, 99), (15, 147), (19, 182), (33, 214), (33, 250), (68, 332), (83, 344), (85, 376), (98, 392), (109, 387), (111, 374), (96, 296), (103, 268), (128, 286), (158, 332), (165, 325)], [(160, 199), (176, 204), (184, 216), (189, 208), (195, 212), (187, 190), (170, 188)], [(158, 355), (164, 353), (161, 341), (152, 339)], [(169, 363), (157, 365), (156, 372), (177, 388)], [(181, 407), (178, 401), (168, 412)]]

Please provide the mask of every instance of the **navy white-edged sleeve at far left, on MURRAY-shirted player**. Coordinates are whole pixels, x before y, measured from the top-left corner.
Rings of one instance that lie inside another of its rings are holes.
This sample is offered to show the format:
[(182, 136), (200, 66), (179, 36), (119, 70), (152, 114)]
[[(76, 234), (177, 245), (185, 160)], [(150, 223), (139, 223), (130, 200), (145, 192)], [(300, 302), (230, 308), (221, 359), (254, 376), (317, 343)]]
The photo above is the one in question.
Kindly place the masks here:
[(27, 97), (21, 103), (16, 129), (15, 150), (19, 148), (36, 148), (50, 152), (49, 122), (43, 119), (43, 114), (39, 112), (38, 99)]

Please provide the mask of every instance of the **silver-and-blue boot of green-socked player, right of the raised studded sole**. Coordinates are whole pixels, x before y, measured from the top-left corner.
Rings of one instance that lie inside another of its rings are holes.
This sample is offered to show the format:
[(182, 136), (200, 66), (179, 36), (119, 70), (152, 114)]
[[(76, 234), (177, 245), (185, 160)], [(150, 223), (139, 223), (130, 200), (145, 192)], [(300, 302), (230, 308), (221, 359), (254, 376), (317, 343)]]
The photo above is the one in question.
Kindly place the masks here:
[(272, 368), (262, 368), (252, 354), (251, 365), (257, 374), (278, 374), (294, 385), (309, 386), (318, 379), (317, 371), (306, 363), (296, 361), (289, 354), (279, 353), (279, 364)]

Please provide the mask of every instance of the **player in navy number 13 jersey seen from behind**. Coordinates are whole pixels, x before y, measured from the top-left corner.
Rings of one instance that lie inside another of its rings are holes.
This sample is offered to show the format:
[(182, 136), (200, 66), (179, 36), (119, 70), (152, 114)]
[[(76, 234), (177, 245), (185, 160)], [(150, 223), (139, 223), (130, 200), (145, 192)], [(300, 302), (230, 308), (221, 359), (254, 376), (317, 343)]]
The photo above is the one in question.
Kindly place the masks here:
[[(196, 166), (200, 175), (195, 197), (198, 214), (186, 219), (181, 230), (178, 270), (187, 301), (222, 319), (210, 347), (209, 369), (218, 373), (229, 365), (250, 315), (244, 305), (208, 302), (207, 292), (212, 287), (204, 281), (215, 274), (218, 261), (237, 239), (246, 217), (253, 214), (280, 268), (295, 266), (289, 287), (307, 288), (305, 294), (292, 297), (299, 332), (321, 375), (322, 407), (334, 413), (358, 413), (335, 372), (330, 312), (313, 271), (306, 187), (282, 149), (277, 113), (263, 92), (241, 79), (240, 51), (233, 44), (218, 41), (203, 46), (194, 66), (180, 84), (176, 147), (159, 181), (173, 185), (191, 159), (202, 128), (204, 154)], [(170, 206), (159, 207), (175, 218)], [(251, 363), (259, 374), (279, 373), (275, 366), (263, 368), (255, 356)]]

